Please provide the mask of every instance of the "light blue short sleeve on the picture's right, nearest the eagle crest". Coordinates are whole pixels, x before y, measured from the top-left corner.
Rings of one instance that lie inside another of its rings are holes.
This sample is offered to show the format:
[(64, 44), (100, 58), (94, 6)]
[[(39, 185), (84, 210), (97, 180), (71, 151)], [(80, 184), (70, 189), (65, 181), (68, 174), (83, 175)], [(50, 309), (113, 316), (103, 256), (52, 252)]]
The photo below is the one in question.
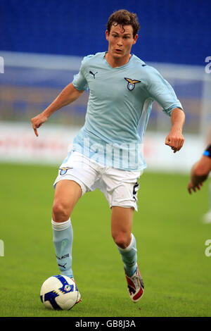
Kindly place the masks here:
[(181, 108), (183, 110), (174, 89), (155, 68), (151, 68), (151, 74), (148, 75), (148, 93), (169, 116), (172, 114), (174, 108)]

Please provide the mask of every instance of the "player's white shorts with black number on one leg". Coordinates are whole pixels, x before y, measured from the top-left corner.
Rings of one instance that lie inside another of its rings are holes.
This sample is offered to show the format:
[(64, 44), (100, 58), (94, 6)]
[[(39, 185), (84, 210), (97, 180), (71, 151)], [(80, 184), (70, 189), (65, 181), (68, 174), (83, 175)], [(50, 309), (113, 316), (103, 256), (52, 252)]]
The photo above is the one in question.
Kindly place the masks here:
[(99, 189), (106, 196), (110, 208), (120, 206), (133, 207), (137, 211), (138, 179), (143, 171), (127, 171), (105, 167), (73, 151), (65, 163), (60, 165), (58, 177), (53, 184), (60, 180), (74, 180), (82, 188), (82, 195)]

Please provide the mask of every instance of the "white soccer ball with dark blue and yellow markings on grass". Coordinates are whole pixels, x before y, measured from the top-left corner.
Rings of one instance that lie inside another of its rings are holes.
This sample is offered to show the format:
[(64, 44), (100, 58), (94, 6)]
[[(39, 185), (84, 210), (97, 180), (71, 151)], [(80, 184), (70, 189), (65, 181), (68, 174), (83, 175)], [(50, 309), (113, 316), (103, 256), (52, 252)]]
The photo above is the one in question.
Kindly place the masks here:
[(70, 277), (54, 275), (41, 285), (40, 299), (46, 308), (68, 311), (79, 301), (80, 294)]

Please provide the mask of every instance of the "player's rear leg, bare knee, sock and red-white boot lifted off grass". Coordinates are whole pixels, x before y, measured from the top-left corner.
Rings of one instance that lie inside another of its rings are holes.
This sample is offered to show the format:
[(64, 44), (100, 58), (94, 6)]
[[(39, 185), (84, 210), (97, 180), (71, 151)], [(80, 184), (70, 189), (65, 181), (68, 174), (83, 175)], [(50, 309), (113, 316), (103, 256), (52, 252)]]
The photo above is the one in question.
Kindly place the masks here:
[(143, 280), (137, 265), (136, 239), (132, 234), (134, 208), (113, 206), (111, 234), (122, 256), (129, 296), (136, 302), (143, 294)]

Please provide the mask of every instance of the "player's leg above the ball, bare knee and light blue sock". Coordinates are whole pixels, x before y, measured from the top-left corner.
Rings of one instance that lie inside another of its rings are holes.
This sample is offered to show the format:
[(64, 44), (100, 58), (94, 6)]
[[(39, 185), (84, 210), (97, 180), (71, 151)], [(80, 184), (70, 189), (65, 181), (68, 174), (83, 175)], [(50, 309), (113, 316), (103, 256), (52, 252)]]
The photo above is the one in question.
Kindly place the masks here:
[(80, 196), (82, 196), (82, 189), (77, 182), (60, 180), (56, 184), (52, 211), (53, 244), (60, 273), (69, 277), (73, 277), (73, 231), (70, 215)]

